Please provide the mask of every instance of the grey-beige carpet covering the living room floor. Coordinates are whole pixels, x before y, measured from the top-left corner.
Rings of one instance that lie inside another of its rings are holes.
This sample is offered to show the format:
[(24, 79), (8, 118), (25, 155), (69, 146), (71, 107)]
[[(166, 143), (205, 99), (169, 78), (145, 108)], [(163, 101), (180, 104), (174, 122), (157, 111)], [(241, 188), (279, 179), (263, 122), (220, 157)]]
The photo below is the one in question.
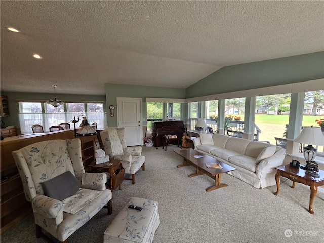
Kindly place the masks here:
[[(87, 224), (73, 233), (69, 243), (103, 241), (103, 233), (129, 197), (158, 201), (160, 225), (154, 243), (172, 242), (322, 242), (324, 239), (324, 193), (318, 192), (314, 214), (308, 212), (310, 189), (282, 179), (276, 186), (256, 189), (228, 174), (222, 175), (227, 187), (211, 192), (214, 184), (206, 175), (189, 178), (192, 166), (177, 168), (182, 158), (168, 146), (143, 147), (145, 171), (136, 173), (136, 184), (124, 180), (113, 192), (112, 215), (102, 209)], [(33, 215), (1, 234), (1, 242), (43, 243), (35, 236)]]

